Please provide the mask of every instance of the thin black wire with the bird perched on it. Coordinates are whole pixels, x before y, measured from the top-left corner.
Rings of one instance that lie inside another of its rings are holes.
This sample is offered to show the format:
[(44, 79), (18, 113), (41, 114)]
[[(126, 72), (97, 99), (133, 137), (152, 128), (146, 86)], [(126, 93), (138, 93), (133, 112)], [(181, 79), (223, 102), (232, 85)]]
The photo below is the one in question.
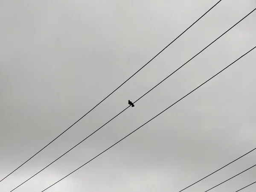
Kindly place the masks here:
[[(254, 9), (253, 11), (255, 11), (256, 9)], [(253, 12), (252, 11), (252, 12)], [(233, 25), (230, 29), (232, 29), (234, 26), (236, 26), (238, 23), (240, 23), (242, 20), (244, 20), (247, 16), (249, 16), (252, 12), (250, 12), (248, 15), (246, 15), (245, 17), (243, 17), (241, 20), (239, 20), (239, 22), (237, 22), (235, 25)], [(215, 39), (214, 41), (212, 41), (211, 44), (213, 44), (215, 41), (217, 41), (219, 38), (221, 38), (224, 34), (226, 34), (228, 31), (230, 31), (230, 29), (228, 29), (226, 32), (224, 32), (221, 36), (219, 36), (217, 39)], [(211, 44), (209, 44), (207, 47), (209, 47)], [(201, 52), (203, 52), (205, 49), (207, 49), (207, 47), (205, 47), (204, 49), (202, 49), (198, 54), (196, 54), (194, 57), (192, 57), (191, 59), (189, 59), (189, 61), (191, 61), (193, 58), (195, 58), (197, 55), (199, 55)], [(183, 67), (184, 65), (186, 65), (189, 61), (187, 61), (185, 64), (183, 64), (181, 67)], [(179, 67), (177, 70), (179, 70), (181, 67)], [(153, 90), (155, 87), (157, 87), (159, 84), (161, 84), (163, 81), (165, 81), (166, 79), (168, 79), (170, 76), (172, 76), (175, 72), (177, 72), (177, 70), (175, 70), (173, 73), (171, 73), (169, 76), (167, 76), (165, 79), (163, 79), (162, 81), (160, 81), (160, 83), (158, 83), (157, 85), (155, 85), (153, 88), (151, 88), (151, 90)], [(148, 94), (151, 90), (149, 90), (148, 92), (146, 92), (143, 96), (141, 96), (139, 99), (137, 99), (134, 103), (136, 103), (137, 101), (139, 101), (141, 98), (143, 98), (146, 94)], [(82, 142), (84, 142), (85, 140), (87, 140), (87, 138), (89, 138), (90, 136), (92, 136), (93, 134), (95, 134), (97, 131), (99, 131), (102, 127), (104, 127), (105, 125), (107, 125), (109, 122), (111, 122), (113, 119), (115, 119), (117, 116), (119, 116), (121, 113), (123, 113), (126, 109), (128, 109), (130, 107), (130, 105), (125, 108), (123, 111), (121, 111), (120, 113), (118, 113), (116, 116), (114, 116), (112, 119), (110, 119), (108, 122), (106, 122), (104, 125), (102, 125), (100, 128), (98, 128), (96, 131), (94, 131), (92, 134), (90, 134), (89, 136), (87, 136), (85, 139), (81, 140), (81, 142), (79, 142), (78, 144), (76, 144), (75, 146), (73, 146), (72, 148), (70, 148), (70, 150), (68, 150), (67, 152), (65, 152), (64, 154), (62, 154), (60, 157), (58, 157), (56, 160), (54, 160), (52, 163), (54, 163), (55, 161), (59, 160), (61, 157), (63, 157), (65, 154), (67, 154), (69, 151), (71, 151), (73, 148), (76, 148), (76, 146), (80, 145)], [(52, 165), (52, 163), (50, 163), (49, 165), (47, 165), (46, 167), (44, 167), (44, 169), (46, 169), (48, 166)], [(37, 172), (35, 175), (33, 175), (32, 177), (35, 177), (36, 175), (38, 175), (38, 173), (42, 172), (44, 169), (41, 169), (41, 171)], [(26, 181), (24, 181), (23, 183), (21, 183), (19, 186), (23, 185), (24, 183), (26, 183), (28, 180), (30, 180), (32, 177), (30, 177), (29, 179), (27, 179)], [(15, 189), (17, 189), (19, 186), (15, 187)], [(12, 189), (12, 191), (14, 191), (15, 189)], [(10, 192), (12, 192), (10, 191)]]

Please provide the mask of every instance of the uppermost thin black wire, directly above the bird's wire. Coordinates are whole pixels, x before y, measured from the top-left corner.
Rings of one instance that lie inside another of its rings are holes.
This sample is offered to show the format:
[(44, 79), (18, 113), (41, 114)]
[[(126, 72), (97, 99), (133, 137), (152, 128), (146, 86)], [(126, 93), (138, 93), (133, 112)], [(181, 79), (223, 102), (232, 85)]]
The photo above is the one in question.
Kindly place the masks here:
[[(214, 6), (212, 6), (206, 13), (204, 13), (204, 15), (206, 15), (210, 10), (212, 10), (216, 5), (218, 5), (218, 3), (220, 3), (221, 0), (219, 0)], [(122, 87), (123, 84), (125, 84), (127, 81), (129, 81), (133, 76), (135, 76), (140, 70), (142, 70), (147, 64), (149, 64), (154, 58), (156, 58), (158, 55), (160, 55), (161, 52), (163, 52), (167, 47), (169, 47), (173, 42), (175, 42), (181, 35), (183, 35), (188, 29), (190, 29), (195, 23), (197, 23), (202, 17), (204, 17), (204, 15), (202, 15), (201, 17), (199, 17), (198, 20), (196, 20), (191, 26), (189, 26), (184, 32), (182, 32), (179, 36), (177, 36), (177, 38), (175, 38), (171, 43), (169, 43), (164, 49), (162, 49), (159, 53), (157, 53), (157, 55), (155, 55), (153, 58), (151, 58), (150, 61), (148, 61), (143, 67), (141, 67), (139, 70), (137, 70), (136, 73), (134, 73), (131, 77), (129, 77), (125, 82), (123, 82), (121, 85), (119, 85), (119, 87), (117, 87), (115, 90), (113, 90), (108, 96), (105, 97), (105, 99), (107, 99), (109, 96), (111, 96), (116, 90), (118, 90), (120, 87)], [(105, 101), (105, 99), (103, 99), (101, 102), (99, 102), (95, 107), (93, 107), (90, 111), (88, 111), (84, 116), (86, 116), (88, 113), (90, 113), (91, 111), (93, 111), (94, 108), (96, 108), (99, 104), (101, 104), (103, 101)], [(75, 123), (73, 123), (73, 125), (75, 125), (77, 122), (79, 122), (82, 118), (84, 118), (84, 116), (82, 116), (80, 119), (78, 119)], [(60, 137), (62, 134), (64, 134), (67, 130), (69, 130), (71, 127), (73, 127), (73, 125), (71, 125), (69, 128), (67, 128), (65, 131), (63, 131), (58, 137)], [(44, 148), (46, 148), (48, 145), (50, 145), (52, 142), (54, 142), (56, 139), (58, 139), (58, 137), (56, 137), (54, 140), (52, 140), (50, 143), (48, 143)], [(44, 148), (42, 148), (40, 151), (38, 151), (36, 154), (34, 154), (32, 157), (30, 157), (28, 160), (26, 160), (22, 165), (20, 165), (19, 167), (17, 167), (13, 172), (15, 172), (17, 169), (19, 169), (21, 166), (23, 166), (25, 163), (27, 163), (29, 160), (31, 160), (33, 157), (35, 157), (38, 153), (40, 153), (42, 150), (44, 150)], [(13, 172), (11, 172), (9, 175), (11, 175)], [(8, 177), (9, 175), (7, 175), (6, 177)], [(4, 177), (1, 181), (3, 181), (4, 179), (6, 179), (6, 177)]]

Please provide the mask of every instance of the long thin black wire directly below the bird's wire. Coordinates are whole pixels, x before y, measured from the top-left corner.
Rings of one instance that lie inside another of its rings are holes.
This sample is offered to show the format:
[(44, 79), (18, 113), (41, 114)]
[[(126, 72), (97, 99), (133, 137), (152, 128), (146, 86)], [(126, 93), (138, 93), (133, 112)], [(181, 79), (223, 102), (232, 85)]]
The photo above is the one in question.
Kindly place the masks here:
[[(251, 52), (253, 49), (255, 49), (255, 47), (253, 47), (252, 49), (250, 49), (250, 51), (246, 52), (244, 55), (242, 55), (241, 57), (239, 57), (238, 59), (236, 59), (236, 61), (238, 61), (239, 59), (241, 59), (242, 57), (244, 57), (245, 55), (247, 55), (249, 52)], [(150, 119), (149, 121), (145, 122), (143, 125), (141, 125), (139, 128), (135, 129), (134, 131), (132, 131), (130, 134), (126, 135), (125, 137), (123, 137), (121, 140), (119, 140), (118, 142), (116, 142), (115, 144), (111, 145), (109, 148), (105, 149), (105, 151), (102, 151), (100, 154), (98, 154), (96, 157), (93, 157), (91, 160), (87, 161), (86, 163), (84, 163), (82, 166), (80, 166), (79, 168), (77, 168), (76, 170), (74, 170), (73, 172), (71, 172), (70, 174), (66, 175), (65, 177), (63, 177), (62, 179), (58, 180), (57, 182), (53, 183), (51, 186), (47, 187), (46, 189), (44, 189), (41, 192), (46, 191), (47, 189), (49, 189), (50, 187), (54, 186), (56, 183), (60, 182), (61, 180), (63, 180), (64, 178), (68, 177), (69, 175), (71, 175), (72, 173), (76, 172), (77, 170), (79, 170), (81, 167), (85, 166), (87, 163), (90, 163), (92, 160), (96, 159), (97, 157), (99, 157), (101, 154), (105, 153), (106, 151), (108, 151), (110, 148), (112, 148), (113, 146), (115, 146), (117, 143), (121, 142), (122, 140), (124, 140), (126, 137), (130, 136), (131, 134), (133, 134), (135, 131), (137, 131), (138, 129), (140, 129), (141, 127), (143, 127), (144, 125), (146, 125), (148, 122), (151, 122), (154, 118), (156, 118), (157, 116), (159, 116), (160, 114), (162, 114), (163, 112), (165, 112), (166, 110), (168, 110), (169, 108), (171, 108), (173, 105), (175, 105), (177, 102), (180, 102), (182, 99), (184, 99), (186, 96), (190, 95), (191, 93), (193, 93), (195, 90), (197, 90), (199, 87), (201, 87), (202, 85), (206, 84), (208, 81), (210, 81), (211, 79), (213, 79), (215, 76), (217, 76), (219, 73), (221, 73), (222, 71), (226, 70), (228, 67), (230, 67), (232, 64), (234, 64), (236, 61), (233, 61), (233, 63), (229, 64), (227, 67), (225, 67), (223, 70), (221, 70), (220, 72), (218, 72), (217, 74), (215, 74), (214, 76), (212, 76), (210, 79), (208, 79), (207, 81), (205, 81), (203, 84), (199, 85), (198, 87), (196, 87), (194, 90), (192, 90), (191, 92), (189, 92), (188, 94), (186, 94), (185, 96), (183, 96), (181, 99), (177, 100), (175, 103), (173, 103), (171, 106), (169, 106), (168, 108), (166, 108), (165, 110), (163, 110), (162, 112), (158, 113), (156, 116), (154, 116), (152, 119)]]

